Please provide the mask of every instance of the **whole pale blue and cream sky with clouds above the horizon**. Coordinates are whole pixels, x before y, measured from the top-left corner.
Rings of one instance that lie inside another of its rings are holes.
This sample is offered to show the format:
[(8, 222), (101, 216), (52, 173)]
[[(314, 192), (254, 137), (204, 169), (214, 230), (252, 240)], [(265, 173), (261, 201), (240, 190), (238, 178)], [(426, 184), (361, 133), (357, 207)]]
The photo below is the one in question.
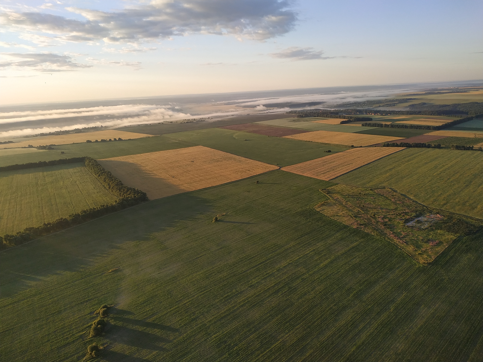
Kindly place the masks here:
[(481, 0), (0, 1), (0, 102), (483, 79)]

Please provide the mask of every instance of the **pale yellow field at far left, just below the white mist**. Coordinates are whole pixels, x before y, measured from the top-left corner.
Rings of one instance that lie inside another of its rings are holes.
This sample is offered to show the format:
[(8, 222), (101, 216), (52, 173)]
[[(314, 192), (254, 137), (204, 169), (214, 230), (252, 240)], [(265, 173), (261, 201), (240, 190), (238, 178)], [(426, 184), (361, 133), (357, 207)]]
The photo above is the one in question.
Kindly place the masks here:
[(100, 141), (101, 139), (114, 139), (114, 138), (134, 139), (134, 138), (142, 138), (142, 137), (150, 137), (150, 135), (145, 135), (143, 133), (115, 131), (114, 129), (113, 130), (109, 129), (105, 131), (73, 133), (70, 135), (35, 137), (32, 139), (28, 139), (26, 141), (9, 143), (8, 145), (5, 145), (5, 146), (8, 148), (27, 147), (29, 144), (31, 144), (32, 146), (37, 147), (37, 146), (45, 146), (49, 144), (79, 143), (79, 142), (85, 142), (87, 139), (94, 142), (96, 139)]

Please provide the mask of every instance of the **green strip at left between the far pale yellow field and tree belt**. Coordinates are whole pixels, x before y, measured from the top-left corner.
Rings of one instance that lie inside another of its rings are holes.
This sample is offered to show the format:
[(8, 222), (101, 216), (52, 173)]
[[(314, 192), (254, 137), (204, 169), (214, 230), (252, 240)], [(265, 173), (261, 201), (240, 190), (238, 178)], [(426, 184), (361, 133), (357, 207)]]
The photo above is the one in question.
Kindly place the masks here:
[[(52, 151), (0, 156), (0, 166), (82, 156), (101, 159), (126, 156), (129, 154), (172, 150), (174, 148), (190, 146), (193, 146), (193, 144), (175, 139), (169, 139), (163, 136), (129, 139), (115, 142), (72, 143), (54, 146), (55, 150)], [(61, 152), (64, 153), (61, 154)]]

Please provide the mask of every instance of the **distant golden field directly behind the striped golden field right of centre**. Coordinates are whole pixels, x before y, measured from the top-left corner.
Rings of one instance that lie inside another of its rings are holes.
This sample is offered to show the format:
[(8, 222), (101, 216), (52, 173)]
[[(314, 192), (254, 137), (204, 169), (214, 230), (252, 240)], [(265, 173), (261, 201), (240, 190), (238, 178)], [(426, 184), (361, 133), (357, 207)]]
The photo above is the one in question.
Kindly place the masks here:
[(314, 131), (300, 133), (298, 135), (284, 136), (285, 138), (298, 139), (302, 141), (312, 141), (321, 143), (334, 143), (342, 145), (354, 146), (370, 146), (371, 144), (390, 142), (402, 137), (374, 136), (359, 133), (332, 132), (332, 131)]

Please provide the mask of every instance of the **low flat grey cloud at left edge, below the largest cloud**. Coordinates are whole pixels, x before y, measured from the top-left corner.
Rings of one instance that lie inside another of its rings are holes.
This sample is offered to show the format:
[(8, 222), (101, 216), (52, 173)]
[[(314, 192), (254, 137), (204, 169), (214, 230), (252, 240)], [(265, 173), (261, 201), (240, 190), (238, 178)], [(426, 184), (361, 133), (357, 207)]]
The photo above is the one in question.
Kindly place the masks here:
[(1, 55), (6, 61), (0, 62), (0, 69), (29, 69), (50, 73), (92, 67), (74, 62), (71, 56), (60, 56), (54, 53), (1, 53)]

